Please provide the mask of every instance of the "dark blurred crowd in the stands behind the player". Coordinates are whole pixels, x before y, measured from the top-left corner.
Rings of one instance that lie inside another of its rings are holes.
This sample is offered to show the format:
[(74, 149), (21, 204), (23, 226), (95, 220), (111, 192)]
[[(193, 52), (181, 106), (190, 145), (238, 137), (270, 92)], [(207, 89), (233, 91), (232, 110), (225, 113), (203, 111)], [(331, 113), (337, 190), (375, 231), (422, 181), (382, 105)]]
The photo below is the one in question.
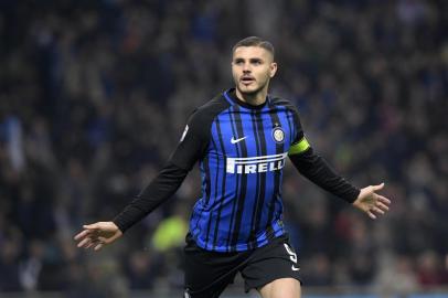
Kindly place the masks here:
[(370, 220), (300, 178), (285, 221), (306, 286), (448, 286), (448, 2), (0, 1), (0, 291), (125, 297), (180, 288), (198, 169), (100, 253), (76, 248), (157, 174), (194, 107), (232, 87), (231, 49), (276, 47), (270, 92), (358, 187), (385, 182)]

